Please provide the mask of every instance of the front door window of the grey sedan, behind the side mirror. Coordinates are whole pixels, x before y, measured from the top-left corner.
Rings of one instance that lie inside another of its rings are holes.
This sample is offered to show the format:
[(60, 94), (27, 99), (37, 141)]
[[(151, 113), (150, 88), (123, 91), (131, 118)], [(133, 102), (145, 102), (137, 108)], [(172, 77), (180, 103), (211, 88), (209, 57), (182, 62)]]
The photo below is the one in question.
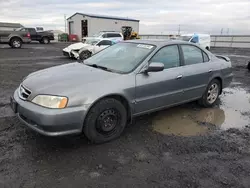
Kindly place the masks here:
[(164, 64), (165, 69), (180, 66), (180, 56), (177, 45), (166, 46), (160, 49), (150, 62), (159, 62)]

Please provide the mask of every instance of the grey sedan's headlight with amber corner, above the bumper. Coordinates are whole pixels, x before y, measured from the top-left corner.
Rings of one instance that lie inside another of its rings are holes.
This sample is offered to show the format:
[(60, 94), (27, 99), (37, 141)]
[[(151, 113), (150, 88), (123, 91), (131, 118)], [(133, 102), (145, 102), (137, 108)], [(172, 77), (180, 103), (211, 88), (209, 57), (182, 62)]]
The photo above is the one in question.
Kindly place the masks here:
[(68, 98), (50, 95), (37, 95), (32, 102), (47, 108), (65, 108), (68, 103)]

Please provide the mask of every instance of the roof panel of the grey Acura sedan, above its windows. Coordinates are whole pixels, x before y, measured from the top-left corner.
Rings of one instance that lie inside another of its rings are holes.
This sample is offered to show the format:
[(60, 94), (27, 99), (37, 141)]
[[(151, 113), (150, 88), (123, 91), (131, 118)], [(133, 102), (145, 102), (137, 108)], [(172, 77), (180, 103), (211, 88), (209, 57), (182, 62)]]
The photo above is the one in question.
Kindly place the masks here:
[(136, 44), (151, 44), (155, 46), (165, 46), (171, 44), (190, 44), (190, 42), (181, 40), (170, 40), (170, 39), (147, 39), (147, 40), (127, 40), (123, 41), (125, 43), (136, 43)]

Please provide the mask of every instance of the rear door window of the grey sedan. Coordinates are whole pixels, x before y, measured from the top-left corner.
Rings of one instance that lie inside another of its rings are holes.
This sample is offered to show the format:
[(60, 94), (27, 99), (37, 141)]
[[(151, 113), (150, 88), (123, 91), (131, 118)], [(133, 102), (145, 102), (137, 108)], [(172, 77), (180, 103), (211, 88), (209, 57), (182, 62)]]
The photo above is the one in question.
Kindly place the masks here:
[(185, 65), (192, 65), (203, 62), (202, 52), (199, 48), (191, 45), (181, 46)]

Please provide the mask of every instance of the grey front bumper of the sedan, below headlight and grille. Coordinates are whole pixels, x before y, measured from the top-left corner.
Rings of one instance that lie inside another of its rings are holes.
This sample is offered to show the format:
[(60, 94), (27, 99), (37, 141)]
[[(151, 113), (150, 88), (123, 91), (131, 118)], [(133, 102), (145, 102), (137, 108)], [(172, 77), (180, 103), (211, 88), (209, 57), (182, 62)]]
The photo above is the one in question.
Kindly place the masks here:
[(18, 90), (14, 93), (17, 103), (16, 115), (29, 128), (45, 136), (80, 134), (88, 105), (65, 109), (49, 109), (24, 101), (19, 98)]

